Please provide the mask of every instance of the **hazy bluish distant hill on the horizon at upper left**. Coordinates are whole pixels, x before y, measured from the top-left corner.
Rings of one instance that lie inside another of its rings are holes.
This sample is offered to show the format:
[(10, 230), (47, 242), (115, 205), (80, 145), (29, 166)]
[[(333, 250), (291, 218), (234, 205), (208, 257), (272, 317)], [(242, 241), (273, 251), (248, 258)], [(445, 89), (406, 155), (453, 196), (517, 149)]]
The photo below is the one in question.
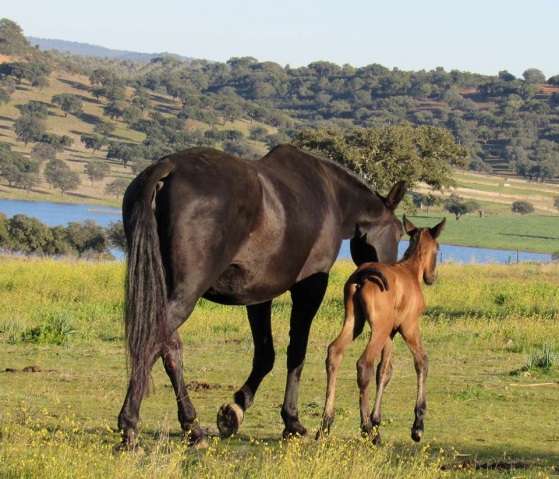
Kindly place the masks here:
[(48, 38), (27, 37), (31, 45), (38, 45), (43, 51), (57, 50), (59, 52), (68, 52), (71, 55), (83, 55), (96, 58), (110, 58), (115, 60), (132, 60), (137, 62), (149, 62), (154, 58), (163, 56), (173, 56), (182, 61), (191, 62), (192, 57), (184, 57), (174, 53), (140, 53), (130, 52), (126, 50), (112, 50), (110, 48), (101, 47), (99, 45), (90, 45), (89, 43), (69, 42), (67, 40), (53, 40)]

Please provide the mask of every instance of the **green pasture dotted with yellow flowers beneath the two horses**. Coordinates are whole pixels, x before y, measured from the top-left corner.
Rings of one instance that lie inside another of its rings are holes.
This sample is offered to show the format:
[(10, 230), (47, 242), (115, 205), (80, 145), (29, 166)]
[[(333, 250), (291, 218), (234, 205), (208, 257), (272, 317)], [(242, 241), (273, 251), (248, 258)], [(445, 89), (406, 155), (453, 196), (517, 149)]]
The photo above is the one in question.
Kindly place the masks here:
[(114, 446), (127, 385), (124, 265), (0, 257), (0, 477), (556, 477), (559, 265), (440, 266), (437, 283), (424, 287), (425, 436), (410, 438), (415, 371), (396, 338), (380, 446), (359, 434), (355, 361), (367, 329), (342, 364), (331, 435), (314, 440), (326, 348), (341, 328), (352, 271), (336, 263), (311, 330), (299, 399), (308, 437), (279, 439), (289, 296), (273, 306), (274, 370), (229, 439), (218, 437), (215, 417), (249, 373), (250, 329), (244, 308), (201, 300), (181, 336), (209, 448), (181, 443), (173, 391), (157, 364), (142, 405), (142, 447), (123, 453)]

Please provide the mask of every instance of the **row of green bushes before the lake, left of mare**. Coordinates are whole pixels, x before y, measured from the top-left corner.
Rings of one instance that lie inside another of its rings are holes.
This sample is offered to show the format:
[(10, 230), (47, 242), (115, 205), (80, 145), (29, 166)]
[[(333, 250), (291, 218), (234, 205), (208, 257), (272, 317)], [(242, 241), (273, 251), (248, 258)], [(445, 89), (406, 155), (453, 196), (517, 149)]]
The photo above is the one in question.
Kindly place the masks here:
[(107, 228), (93, 220), (48, 226), (27, 215), (0, 213), (0, 250), (5, 253), (109, 260), (114, 259), (111, 248), (126, 249), (122, 221)]

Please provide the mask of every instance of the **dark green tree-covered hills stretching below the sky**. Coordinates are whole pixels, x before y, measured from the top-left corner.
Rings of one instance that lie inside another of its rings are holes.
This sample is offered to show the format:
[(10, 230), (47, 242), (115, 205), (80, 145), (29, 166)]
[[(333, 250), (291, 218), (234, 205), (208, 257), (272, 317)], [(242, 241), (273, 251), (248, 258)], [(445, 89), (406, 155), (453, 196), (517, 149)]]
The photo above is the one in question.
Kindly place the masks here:
[[(95, 134), (81, 139), (86, 148), (106, 148), (107, 158), (123, 164), (139, 168), (190, 146), (259, 158), (263, 150), (309, 129), (346, 132), (411, 124), (450, 130), (467, 148), (472, 170), (497, 167), (532, 180), (559, 175), (557, 74), (546, 78), (534, 68), (520, 78), (507, 71), (494, 76), (444, 68), (410, 72), (327, 61), (291, 68), (253, 57), (225, 63), (172, 56), (149, 62), (101, 60), (33, 49), (13, 33), (17, 24), (1, 22), (0, 40), (10, 41), (0, 42), (0, 48), (4, 53), (19, 49), (28, 60), (0, 67), (0, 101), (21, 81), (40, 88), (53, 68), (86, 75), (87, 89), (103, 103), (106, 119), (145, 135), (141, 144), (109, 140), (110, 121), (100, 118)], [(154, 99), (161, 100), (157, 106)], [(79, 114), (76, 98), (53, 97), (50, 104)], [(235, 120), (258, 124), (245, 135), (227, 128)]]

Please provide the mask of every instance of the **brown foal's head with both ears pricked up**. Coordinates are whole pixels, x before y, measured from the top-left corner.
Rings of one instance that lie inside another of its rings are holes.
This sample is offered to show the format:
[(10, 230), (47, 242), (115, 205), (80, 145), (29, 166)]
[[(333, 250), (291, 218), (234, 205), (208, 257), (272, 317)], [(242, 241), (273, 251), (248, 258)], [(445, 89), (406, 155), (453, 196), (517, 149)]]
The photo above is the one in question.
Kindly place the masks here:
[(410, 244), (404, 253), (403, 260), (414, 257), (423, 268), (423, 281), (433, 284), (437, 279), (437, 238), (443, 232), (446, 218), (432, 228), (417, 228), (404, 215), (404, 228), (410, 236)]

